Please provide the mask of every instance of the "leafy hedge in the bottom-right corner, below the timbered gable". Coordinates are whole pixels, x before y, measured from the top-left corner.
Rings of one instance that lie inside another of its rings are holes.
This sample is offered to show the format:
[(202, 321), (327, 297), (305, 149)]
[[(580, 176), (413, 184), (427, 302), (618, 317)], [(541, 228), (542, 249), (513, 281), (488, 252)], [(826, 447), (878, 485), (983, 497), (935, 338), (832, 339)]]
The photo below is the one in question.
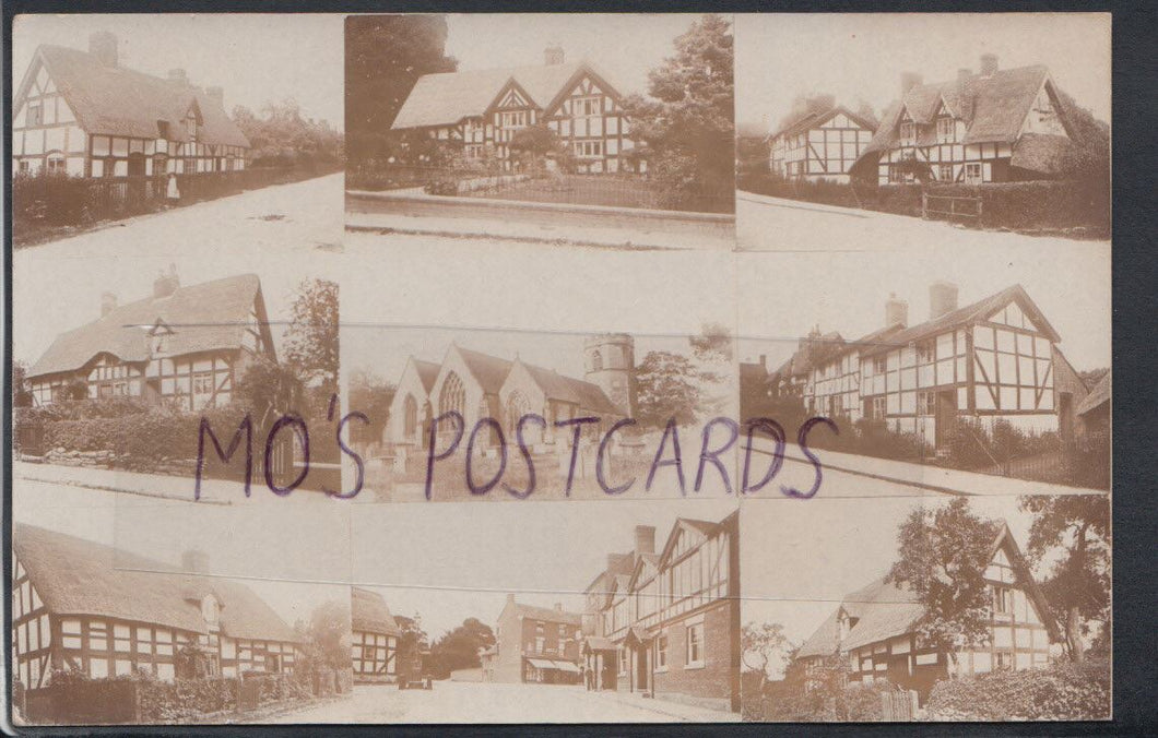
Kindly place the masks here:
[(994, 671), (939, 681), (929, 695), (932, 719), (1101, 719), (1111, 711), (1107, 660)]

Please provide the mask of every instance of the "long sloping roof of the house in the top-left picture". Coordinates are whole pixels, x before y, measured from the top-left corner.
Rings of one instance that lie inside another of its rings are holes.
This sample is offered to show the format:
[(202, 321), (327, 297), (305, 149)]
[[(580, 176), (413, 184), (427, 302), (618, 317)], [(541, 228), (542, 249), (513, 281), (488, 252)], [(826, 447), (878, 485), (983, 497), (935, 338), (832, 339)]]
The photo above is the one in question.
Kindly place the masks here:
[(157, 121), (169, 124), (170, 140), (188, 140), (182, 123), (195, 102), (200, 110), (200, 142), (249, 147), (241, 128), (219, 102), (189, 84), (110, 67), (86, 51), (42, 45), (37, 50), (57, 88), (88, 133), (160, 138)]

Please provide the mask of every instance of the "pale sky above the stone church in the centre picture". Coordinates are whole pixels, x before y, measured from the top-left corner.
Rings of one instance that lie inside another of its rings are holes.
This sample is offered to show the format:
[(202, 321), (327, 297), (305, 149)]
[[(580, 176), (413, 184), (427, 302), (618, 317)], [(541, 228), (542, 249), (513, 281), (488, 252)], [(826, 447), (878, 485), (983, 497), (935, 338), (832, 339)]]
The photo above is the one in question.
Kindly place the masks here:
[[(438, 362), (457, 340), (581, 377), (584, 335), (631, 333), (639, 361), (653, 349), (688, 353), (688, 335), (704, 324), (735, 325), (728, 252), (657, 258), (420, 236), (390, 246), (389, 280), (375, 270), (343, 274), (343, 371), (368, 369), (397, 382), (410, 354)], [(477, 258), (464, 258), (464, 249)], [(505, 276), (484, 278), (481, 264)]]

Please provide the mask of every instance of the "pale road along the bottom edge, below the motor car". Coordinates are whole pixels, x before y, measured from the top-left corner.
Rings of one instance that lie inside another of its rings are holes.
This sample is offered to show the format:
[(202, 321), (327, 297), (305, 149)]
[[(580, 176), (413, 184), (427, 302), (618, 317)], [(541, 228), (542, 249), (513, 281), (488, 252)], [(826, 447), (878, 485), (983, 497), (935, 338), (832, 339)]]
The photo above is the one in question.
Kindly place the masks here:
[(295, 710), (262, 723), (669, 723), (734, 722), (736, 713), (690, 707), (574, 685), (435, 681), (400, 691), (361, 685), (345, 700)]

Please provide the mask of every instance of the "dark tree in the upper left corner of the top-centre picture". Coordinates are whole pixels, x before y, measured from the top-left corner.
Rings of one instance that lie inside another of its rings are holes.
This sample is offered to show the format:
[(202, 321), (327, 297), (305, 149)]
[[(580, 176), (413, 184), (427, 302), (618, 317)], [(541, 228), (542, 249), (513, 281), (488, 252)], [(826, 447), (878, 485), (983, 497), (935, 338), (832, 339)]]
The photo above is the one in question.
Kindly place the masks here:
[(346, 19), (346, 138), (350, 156), (383, 155), (398, 110), (424, 74), (454, 72), (442, 15), (352, 15)]

